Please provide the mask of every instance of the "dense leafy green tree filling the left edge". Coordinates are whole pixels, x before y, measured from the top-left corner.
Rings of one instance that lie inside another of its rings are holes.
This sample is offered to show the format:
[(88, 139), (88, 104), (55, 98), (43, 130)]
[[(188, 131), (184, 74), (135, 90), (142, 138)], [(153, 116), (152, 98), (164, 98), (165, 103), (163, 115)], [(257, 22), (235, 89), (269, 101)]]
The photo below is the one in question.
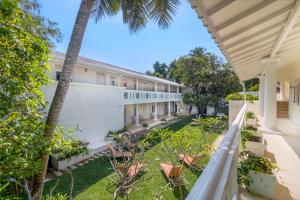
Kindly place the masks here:
[[(1, 0), (0, 24), (0, 185), (9, 179), (24, 184), (37, 175), (37, 160), (50, 148), (43, 138), (40, 87), (48, 82), (50, 41), (60, 33), (39, 15), (39, 4), (25, 0)], [(7, 184), (17, 192), (13, 182)]]

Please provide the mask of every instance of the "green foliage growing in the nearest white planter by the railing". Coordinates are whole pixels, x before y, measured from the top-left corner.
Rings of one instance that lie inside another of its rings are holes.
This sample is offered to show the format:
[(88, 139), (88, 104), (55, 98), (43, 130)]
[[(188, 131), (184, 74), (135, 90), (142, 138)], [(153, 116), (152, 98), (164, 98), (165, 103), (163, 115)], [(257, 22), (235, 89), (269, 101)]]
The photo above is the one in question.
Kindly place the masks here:
[(273, 171), (278, 169), (277, 165), (270, 159), (255, 156), (251, 152), (241, 152), (240, 161), (238, 163), (238, 183), (247, 190), (252, 182), (249, 177), (249, 171), (256, 173), (273, 174)]

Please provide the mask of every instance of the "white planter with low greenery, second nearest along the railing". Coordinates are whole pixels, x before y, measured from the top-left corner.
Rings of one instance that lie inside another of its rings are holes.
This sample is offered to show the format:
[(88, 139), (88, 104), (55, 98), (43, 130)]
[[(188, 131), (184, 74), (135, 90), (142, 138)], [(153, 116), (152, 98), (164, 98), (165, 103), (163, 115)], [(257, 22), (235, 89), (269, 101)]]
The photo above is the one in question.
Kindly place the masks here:
[(266, 147), (260, 133), (255, 130), (243, 130), (241, 137), (243, 149), (251, 151), (257, 156), (264, 156)]

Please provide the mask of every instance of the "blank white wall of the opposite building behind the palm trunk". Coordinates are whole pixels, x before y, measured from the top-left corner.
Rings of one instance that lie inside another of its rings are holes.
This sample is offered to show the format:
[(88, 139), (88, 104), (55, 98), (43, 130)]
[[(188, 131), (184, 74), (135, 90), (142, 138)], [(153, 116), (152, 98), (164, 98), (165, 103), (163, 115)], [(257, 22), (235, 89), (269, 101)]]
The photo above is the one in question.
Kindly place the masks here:
[[(56, 82), (43, 88), (45, 98), (51, 101)], [(102, 142), (107, 132), (124, 126), (123, 93), (125, 88), (97, 84), (71, 83), (59, 124), (66, 129), (82, 130), (75, 133), (90, 144)]]

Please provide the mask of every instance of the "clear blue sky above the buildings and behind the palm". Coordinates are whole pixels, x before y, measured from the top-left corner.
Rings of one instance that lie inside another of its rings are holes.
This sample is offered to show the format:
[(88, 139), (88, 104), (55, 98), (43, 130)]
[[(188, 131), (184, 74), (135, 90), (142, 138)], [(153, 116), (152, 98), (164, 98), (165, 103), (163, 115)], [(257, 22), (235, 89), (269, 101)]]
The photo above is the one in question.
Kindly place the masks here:
[[(63, 40), (56, 44), (56, 50), (65, 53), (80, 0), (39, 2), (42, 5), (41, 14), (58, 23)], [(97, 24), (91, 19), (80, 55), (145, 72), (152, 69), (155, 61), (169, 64), (197, 46), (222, 56), (196, 12), (188, 1), (183, 0), (168, 29), (160, 29), (154, 22), (149, 22), (146, 28), (130, 34), (121, 14), (105, 18)]]

